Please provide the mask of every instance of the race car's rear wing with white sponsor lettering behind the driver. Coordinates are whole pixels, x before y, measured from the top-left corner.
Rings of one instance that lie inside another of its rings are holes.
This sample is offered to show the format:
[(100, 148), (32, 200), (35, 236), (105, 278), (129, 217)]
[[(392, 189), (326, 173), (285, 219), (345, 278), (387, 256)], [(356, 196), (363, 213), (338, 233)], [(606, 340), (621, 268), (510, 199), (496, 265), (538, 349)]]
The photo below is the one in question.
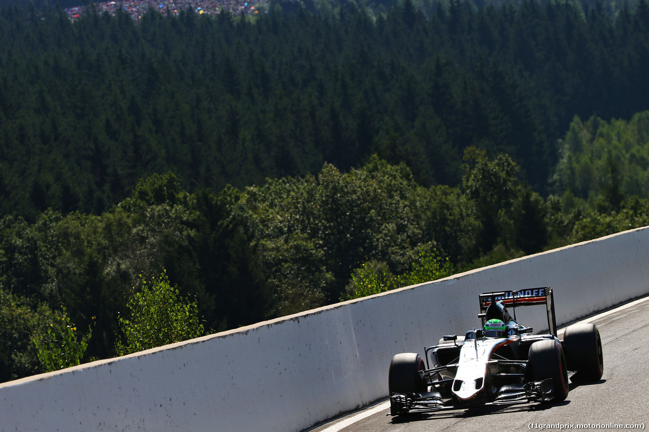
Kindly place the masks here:
[(545, 304), (548, 314), (548, 329), (550, 334), (557, 336), (557, 322), (554, 317), (554, 295), (550, 287), (521, 289), (520, 291), (492, 291), (491, 293), (482, 293), (478, 296), (480, 299), (480, 315), (482, 325), (484, 326), (485, 313), (487, 307), (494, 300), (496, 303), (502, 302), (502, 305), (511, 308), (514, 320), (516, 320), (516, 308), (520, 306), (535, 306)]

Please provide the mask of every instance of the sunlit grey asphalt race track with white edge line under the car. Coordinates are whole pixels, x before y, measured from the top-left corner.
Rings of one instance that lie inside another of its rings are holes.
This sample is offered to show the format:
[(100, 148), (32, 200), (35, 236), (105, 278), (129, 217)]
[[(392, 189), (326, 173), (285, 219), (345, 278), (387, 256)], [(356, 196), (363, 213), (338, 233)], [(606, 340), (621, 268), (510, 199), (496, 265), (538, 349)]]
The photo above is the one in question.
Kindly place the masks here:
[[(585, 321), (594, 322), (600, 330), (604, 376), (592, 384), (570, 383), (567, 400), (557, 405), (528, 404), (441, 411), (412, 415), (408, 422), (403, 422), (387, 415), (389, 403), (386, 399), (310, 431), (644, 430), (644, 427), (649, 427), (649, 298)], [(561, 332), (559, 337), (562, 337)], [(637, 425), (637, 429), (627, 425)]]

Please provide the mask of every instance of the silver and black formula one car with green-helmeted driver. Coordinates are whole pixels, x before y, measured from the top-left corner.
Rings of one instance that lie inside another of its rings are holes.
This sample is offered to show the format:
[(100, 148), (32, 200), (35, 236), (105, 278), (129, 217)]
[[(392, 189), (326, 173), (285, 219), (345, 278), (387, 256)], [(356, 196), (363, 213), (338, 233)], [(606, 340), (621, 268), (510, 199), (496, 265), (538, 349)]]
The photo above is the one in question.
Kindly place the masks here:
[[(602, 341), (594, 324), (574, 324), (557, 338), (550, 287), (483, 293), (482, 328), (448, 335), (419, 354), (397, 354), (389, 369), (390, 414), (530, 402), (561, 402), (574, 382), (602, 378)], [(516, 309), (545, 305), (549, 333), (533, 335)], [(509, 315), (511, 307), (512, 315)], [(570, 371), (570, 372), (569, 372)]]

